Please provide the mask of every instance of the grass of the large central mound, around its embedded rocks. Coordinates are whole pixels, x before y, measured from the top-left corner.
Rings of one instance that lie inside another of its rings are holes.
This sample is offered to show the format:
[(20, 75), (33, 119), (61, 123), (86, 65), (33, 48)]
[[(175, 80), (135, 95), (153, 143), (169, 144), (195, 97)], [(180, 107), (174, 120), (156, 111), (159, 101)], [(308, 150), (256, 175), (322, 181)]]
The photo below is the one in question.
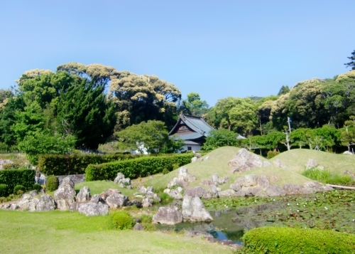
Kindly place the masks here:
[[(228, 166), (228, 162), (236, 157), (236, 153), (239, 151), (237, 147), (220, 147), (210, 152), (206, 156), (209, 157), (208, 161), (194, 162), (185, 165), (189, 171), (189, 174), (194, 174), (197, 177), (197, 181), (189, 184), (190, 187), (200, 186), (202, 180), (210, 180), (213, 173), (217, 173), (219, 177), (228, 176), (229, 181), (226, 184), (222, 184), (221, 187), (229, 189), (229, 185), (236, 179), (245, 176), (246, 174), (266, 175), (271, 179), (271, 184), (284, 185), (291, 184), (304, 184), (306, 181), (311, 181), (297, 172), (290, 171), (288, 169), (281, 169), (276, 166), (263, 167), (253, 169), (251, 171), (245, 171), (242, 174), (232, 174), (231, 167)], [(267, 159), (261, 157), (263, 161)], [(178, 176), (178, 171), (174, 170), (163, 176), (155, 176), (153, 179), (146, 181), (145, 186), (154, 186), (155, 189), (165, 189), (169, 181)]]

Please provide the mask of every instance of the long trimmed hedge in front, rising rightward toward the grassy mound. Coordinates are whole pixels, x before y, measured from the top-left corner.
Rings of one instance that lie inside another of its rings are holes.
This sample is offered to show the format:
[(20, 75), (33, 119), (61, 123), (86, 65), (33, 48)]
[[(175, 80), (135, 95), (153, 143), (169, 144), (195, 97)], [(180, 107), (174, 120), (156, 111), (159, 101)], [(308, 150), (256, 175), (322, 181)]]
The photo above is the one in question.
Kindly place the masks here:
[(135, 179), (138, 176), (148, 176), (158, 174), (163, 169), (172, 171), (178, 166), (189, 164), (193, 154), (175, 154), (159, 157), (141, 157), (120, 162), (109, 162), (104, 164), (90, 164), (85, 170), (86, 181), (114, 180), (117, 173), (121, 172), (124, 176)]

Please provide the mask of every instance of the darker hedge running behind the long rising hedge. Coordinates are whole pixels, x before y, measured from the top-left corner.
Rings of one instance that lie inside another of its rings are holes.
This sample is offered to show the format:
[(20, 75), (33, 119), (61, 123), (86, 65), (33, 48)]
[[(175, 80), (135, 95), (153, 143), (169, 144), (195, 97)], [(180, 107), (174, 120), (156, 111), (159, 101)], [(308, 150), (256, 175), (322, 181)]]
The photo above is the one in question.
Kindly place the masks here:
[(83, 154), (83, 155), (61, 155), (61, 154), (40, 154), (38, 157), (38, 169), (41, 173), (49, 175), (84, 174), (89, 164), (102, 164), (115, 162), (124, 159), (134, 159), (139, 155), (131, 154)]

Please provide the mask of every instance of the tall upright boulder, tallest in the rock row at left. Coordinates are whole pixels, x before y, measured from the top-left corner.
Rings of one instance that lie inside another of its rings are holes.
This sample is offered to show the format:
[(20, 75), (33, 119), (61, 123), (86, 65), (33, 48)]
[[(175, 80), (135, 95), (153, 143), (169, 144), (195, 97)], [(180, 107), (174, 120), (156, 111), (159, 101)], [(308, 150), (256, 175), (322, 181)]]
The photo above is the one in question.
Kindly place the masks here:
[(62, 211), (68, 211), (70, 205), (75, 202), (74, 182), (65, 177), (58, 189), (54, 192), (54, 199), (57, 203), (57, 208)]

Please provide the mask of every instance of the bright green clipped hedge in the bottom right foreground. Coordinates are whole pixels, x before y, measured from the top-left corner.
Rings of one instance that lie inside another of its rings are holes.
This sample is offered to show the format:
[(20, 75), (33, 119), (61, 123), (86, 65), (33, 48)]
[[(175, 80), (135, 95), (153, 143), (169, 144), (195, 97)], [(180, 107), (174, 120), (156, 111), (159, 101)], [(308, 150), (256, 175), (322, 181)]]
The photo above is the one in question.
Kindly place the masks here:
[(244, 248), (238, 253), (355, 253), (355, 235), (336, 231), (262, 227), (243, 238)]

